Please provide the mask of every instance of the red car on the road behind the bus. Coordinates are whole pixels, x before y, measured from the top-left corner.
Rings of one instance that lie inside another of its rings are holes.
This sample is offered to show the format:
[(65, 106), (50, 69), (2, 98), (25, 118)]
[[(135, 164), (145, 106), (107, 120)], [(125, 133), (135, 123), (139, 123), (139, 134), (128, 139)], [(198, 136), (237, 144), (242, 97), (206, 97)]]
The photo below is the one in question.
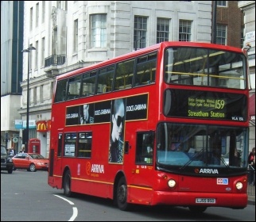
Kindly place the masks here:
[(14, 170), (26, 169), (31, 172), (48, 170), (48, 159), (38, 153), (18, 153), (12, 159)]

